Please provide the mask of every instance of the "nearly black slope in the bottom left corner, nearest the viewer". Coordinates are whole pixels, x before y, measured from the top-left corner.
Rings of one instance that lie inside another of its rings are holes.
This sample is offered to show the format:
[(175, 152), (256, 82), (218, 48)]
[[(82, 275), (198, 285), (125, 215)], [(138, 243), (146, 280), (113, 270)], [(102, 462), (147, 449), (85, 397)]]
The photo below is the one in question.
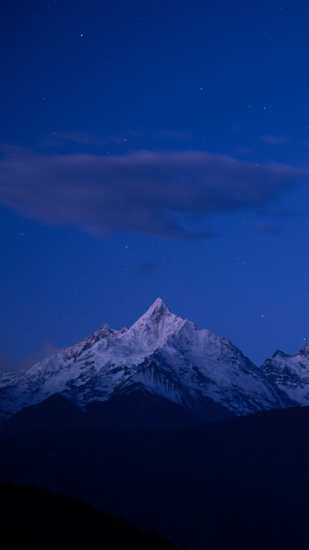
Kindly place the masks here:
[[(96, 510), (80, 498), (54, 495), (46, 488), (0, 483), (3, 550), (176, 550), (154, 529), (143, 533), (123, 518)], [(183, 545), (181, 548), (185, 549)]]

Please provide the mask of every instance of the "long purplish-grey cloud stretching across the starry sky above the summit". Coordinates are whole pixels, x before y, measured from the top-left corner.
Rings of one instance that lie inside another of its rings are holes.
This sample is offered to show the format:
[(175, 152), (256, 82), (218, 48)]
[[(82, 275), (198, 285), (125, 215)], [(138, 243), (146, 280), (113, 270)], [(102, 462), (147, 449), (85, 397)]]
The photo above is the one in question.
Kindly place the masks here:
[(2, 162), (2, 201), (43, 222), (167, 238), (201, 237), (184, 220), (271, 204), (308, 172), (183, 151), (15, 155)]

